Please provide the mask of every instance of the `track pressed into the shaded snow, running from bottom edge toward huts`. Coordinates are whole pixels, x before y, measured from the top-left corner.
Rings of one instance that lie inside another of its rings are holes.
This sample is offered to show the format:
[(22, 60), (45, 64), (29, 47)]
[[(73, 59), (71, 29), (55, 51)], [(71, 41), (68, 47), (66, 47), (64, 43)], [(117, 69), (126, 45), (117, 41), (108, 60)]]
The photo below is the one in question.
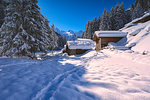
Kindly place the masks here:
[(53, 96), (57, 90), (63, 85), (65, 79), (70, 77), (73, 73), (76, 73), (80, 68), (74, 68), (63, 74), (57, 75), (52, 81), (48, 83), (41, 91), (39, 91), (32, 100), (53, 100)]

